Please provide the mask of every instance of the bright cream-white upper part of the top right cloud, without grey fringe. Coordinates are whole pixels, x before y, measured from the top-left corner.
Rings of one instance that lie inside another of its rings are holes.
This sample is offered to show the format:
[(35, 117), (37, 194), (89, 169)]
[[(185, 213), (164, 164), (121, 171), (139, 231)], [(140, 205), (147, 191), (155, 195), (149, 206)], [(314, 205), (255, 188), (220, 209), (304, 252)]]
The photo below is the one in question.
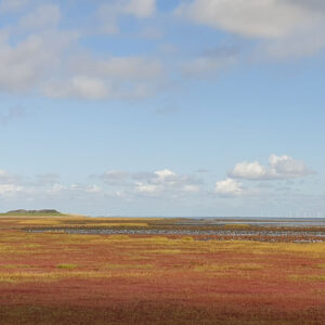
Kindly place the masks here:
[(196, 23), (262, 38), (287, 37), (324, 18), (318, 12), (277, 0), (195, 0), (177, 12)]

